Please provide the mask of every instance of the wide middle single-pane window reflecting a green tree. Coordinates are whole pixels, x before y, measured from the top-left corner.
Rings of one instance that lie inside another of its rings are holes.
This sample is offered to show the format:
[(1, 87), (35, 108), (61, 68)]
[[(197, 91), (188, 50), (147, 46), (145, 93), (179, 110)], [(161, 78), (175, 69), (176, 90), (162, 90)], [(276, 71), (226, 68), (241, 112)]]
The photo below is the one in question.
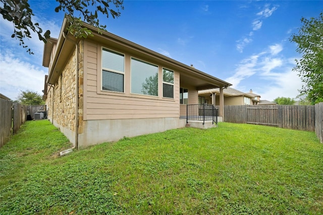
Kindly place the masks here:
[(131, 58), (131, 93), (158, 96), (158, 66)]

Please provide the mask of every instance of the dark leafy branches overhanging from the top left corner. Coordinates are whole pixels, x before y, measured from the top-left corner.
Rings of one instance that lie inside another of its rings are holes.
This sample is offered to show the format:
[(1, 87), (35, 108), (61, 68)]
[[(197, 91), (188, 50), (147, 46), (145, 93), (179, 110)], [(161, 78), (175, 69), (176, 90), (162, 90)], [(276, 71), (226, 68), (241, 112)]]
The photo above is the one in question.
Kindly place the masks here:
[[(93, 34), (87, 28), (82, 27), (82, 18), (84, 22), (87, 22), (90, 25), (93, 25), (98, 28), (98, 32), (104, 31), (106, 25), (99, 24), (98, 13), (109, 18), (109, 14), (113, 17), (119, 17), (120, 11), (123, 10), (122, 6), (123, 0), (75, 0), (75, 1), (66, 1), (66, 0), (56, 0), (59, 3), (59, 6), (55, 8), (55, 12), (63, 11), (70, 22), (69, 31), (75, 37), (84, 37), (86, 38), (89, 35)], [(14, 32), (11, 37), (19, 40), (19, 44), (27, 49), (27, 52), (32, 54), (30, 48), (25, 45), (24, 39), (31, 38), (31, 32), (33, 31), (38, 34), (39, 40), (44, 43), (47, 42), (47, 39), (50, 37), (50, 31), (46, 30), (43, 33), (43, 30), (39, 27), (39, 23), (33, 23), (32, 17), (34, 16), (28, 0), (0, 0), (0, 14), (4, 19), (13, 22)], [(111, 9), (110, 5), (115, 6), (115, 9)], [(92, 10), (92, 11), (91, 11)], [(75, 15), (79, 17), (76, 17)]]

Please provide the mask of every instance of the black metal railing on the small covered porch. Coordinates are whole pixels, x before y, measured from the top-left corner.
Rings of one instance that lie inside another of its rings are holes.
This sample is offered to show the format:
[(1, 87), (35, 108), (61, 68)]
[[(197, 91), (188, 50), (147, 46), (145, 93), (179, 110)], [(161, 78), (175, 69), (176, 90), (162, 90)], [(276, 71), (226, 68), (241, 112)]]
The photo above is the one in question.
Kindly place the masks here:
[(213, 104), (187, 104), (186, 106), (186, 123), (189, 120), (212, 121), (218, 125), (218, 109)]

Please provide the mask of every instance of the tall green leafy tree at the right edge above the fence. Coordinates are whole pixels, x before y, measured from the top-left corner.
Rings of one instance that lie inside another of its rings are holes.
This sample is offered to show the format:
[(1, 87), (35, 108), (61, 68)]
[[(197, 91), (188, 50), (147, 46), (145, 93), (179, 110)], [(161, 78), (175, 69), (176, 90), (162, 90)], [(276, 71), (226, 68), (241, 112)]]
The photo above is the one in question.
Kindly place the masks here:
[(323, 101), (323, 13), (318, 18), (301, 18), (298, 34), (290, 38), (297, 43), (296, 51), (302, 59), (296, 60), (294, 71), (305, 83), (301, 94), (307, 94), (312, 104)]

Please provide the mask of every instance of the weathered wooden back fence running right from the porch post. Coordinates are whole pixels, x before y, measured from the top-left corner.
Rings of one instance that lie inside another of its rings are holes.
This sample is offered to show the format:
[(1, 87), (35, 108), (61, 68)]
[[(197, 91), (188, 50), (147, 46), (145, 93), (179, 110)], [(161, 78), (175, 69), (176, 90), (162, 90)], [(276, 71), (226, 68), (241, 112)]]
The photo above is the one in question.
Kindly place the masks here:
[(314, 105), (226, 105), (224, 120), (315, 131)]

